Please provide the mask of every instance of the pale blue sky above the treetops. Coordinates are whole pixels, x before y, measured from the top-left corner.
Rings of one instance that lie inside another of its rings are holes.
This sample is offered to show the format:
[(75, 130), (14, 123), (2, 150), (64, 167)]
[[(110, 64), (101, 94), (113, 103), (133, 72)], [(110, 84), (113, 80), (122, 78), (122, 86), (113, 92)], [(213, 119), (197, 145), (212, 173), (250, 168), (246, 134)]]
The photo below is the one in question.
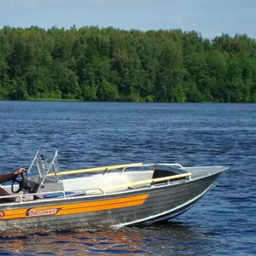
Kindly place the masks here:
[(256, 38), (256, 0), (0, 0), (3, 26), (182, 29)]

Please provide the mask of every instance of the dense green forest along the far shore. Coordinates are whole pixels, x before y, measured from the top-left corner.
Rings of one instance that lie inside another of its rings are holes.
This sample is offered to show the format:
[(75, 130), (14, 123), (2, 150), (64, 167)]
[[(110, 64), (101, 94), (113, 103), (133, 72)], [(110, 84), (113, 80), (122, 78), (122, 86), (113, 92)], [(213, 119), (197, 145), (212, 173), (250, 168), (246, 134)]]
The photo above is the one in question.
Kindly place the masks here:
[(3, 26), (0, 100), (256, 102), (256, 42), (246, 34)]

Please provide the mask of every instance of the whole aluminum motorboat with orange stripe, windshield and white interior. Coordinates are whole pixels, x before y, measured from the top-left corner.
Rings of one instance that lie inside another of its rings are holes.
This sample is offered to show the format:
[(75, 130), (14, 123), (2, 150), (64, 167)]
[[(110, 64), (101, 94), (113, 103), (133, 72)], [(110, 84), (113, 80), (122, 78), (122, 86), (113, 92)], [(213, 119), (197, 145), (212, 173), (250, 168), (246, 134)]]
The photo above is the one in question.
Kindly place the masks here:
[[(194, 206), (226, 166), (131, 163), (61, 172), (38, 148), (27, 172), (3, 189), (0, 230), (119, 228), (169, 221)], [(6, 202), (7, 197), (20, 201)]]

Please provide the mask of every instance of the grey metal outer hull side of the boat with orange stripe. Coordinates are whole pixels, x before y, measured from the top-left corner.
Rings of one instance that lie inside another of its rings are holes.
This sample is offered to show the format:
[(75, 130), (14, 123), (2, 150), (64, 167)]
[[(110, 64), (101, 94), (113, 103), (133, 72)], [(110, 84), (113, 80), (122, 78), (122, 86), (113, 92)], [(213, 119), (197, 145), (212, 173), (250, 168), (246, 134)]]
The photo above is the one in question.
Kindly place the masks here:
[(218, 174), (106, 195), (6, 204), (0, 209), (0, 230), (121, 227), (169, 220), (192, 207)]

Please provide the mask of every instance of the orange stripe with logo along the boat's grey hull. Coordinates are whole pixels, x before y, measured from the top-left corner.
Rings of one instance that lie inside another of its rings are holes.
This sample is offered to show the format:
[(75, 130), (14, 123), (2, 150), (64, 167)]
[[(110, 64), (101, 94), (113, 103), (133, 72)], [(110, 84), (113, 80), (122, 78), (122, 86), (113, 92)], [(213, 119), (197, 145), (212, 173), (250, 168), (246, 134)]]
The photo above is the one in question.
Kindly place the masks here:
[(35, 218), (53, 215), (70, 215), (82, 212), (99, 212), (125, 207), (136, 207), (143, 205), (143, 203), (147, 200), (148, 196), (148, 194), (134, 195), (102, 201), (90, 201), (71, 204), (58, 204), (49, 207), (32, 207), (17, 210), (6, 210), (1, 211), (3, 214), (0, 214), (0, 220), (15, 218)]

